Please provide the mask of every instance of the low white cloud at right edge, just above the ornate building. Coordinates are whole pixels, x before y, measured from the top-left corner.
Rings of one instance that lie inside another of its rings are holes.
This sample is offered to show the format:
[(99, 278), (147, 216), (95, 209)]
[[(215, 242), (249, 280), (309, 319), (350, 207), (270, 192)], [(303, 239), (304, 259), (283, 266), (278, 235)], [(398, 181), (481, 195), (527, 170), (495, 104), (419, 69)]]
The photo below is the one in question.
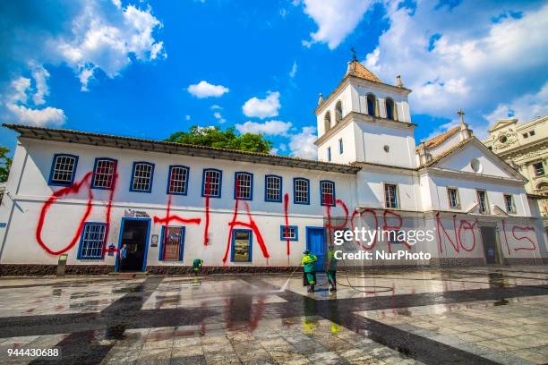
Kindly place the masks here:
[(509, 104), (499, 104), (490, 114), (484, 115), (489, 123), (498, 119), (516, 117), (521, 123), (527, 123), (537, 116), (548, 114), (548, 81), (535, 93), (516, 98)]

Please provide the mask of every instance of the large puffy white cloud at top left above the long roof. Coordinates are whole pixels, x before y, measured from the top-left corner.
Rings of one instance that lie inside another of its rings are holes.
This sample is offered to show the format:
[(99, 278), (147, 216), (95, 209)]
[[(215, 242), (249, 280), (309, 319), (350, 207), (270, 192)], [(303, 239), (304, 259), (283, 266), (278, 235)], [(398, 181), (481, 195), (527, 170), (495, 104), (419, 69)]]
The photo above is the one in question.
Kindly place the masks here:
[(95, 70), (114, 78), (131, 64), (129, 55), (141, 62), (167, 56), (163, 42), (152, 35), (162, 23), (152, 15), (150, 6), (122, 8), (119, 2), (113, 3), (110, 8), (100, 2), (82, 4), (71, 31), (47, 43), (54, 58), (78, 72), (84, 91)]

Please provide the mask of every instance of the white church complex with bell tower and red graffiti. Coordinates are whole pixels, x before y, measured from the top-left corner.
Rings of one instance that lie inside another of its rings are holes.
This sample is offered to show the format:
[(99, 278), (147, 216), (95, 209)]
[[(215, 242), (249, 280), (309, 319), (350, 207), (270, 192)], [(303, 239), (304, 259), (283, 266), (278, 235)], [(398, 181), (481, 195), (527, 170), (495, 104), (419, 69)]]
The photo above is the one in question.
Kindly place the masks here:
[[(325, 259), (336, 229), (423, 230), (432, 240), (347, 242), (344, 250), (432, 259), (344, 265), (543, 263), (546, 233), (527, 180), (458, 127), (415, 146), (406, 89), (348, 64), (320, 97), (318, 160), (4, 124), (20, 133), (0, 207), (0, 274), (121, 268), (288, 270)], [(118, 250), (128, 259), (119, 267)]]

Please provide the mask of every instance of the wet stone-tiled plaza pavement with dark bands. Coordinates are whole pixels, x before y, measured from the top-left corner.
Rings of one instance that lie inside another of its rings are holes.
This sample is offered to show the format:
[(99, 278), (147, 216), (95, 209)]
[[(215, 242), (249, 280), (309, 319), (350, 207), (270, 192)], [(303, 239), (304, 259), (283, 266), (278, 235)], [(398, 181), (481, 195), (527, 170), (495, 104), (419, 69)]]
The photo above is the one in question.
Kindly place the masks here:
[(0, 363), (548, 362), (548, 267), (349, 270), (336, 293), (318, 281), (306, 293), (298, 273), (4, 278)]

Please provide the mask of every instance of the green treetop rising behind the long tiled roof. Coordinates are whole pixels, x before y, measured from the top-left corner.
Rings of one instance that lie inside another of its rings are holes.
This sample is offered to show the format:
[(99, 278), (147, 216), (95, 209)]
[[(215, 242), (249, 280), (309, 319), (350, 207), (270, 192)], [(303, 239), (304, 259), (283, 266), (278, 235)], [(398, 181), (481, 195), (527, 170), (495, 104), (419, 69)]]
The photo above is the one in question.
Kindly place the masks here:
[(219, 127), (203, 128), (193, 125), (189, 132), (175, 132), (167, 140), (219, 149), (238, 149), (261, 153), (269, 153), (272, 148), (272, 142), (265, 140), (262, 134), (239, 134), (234, 127), (221, 131)]

